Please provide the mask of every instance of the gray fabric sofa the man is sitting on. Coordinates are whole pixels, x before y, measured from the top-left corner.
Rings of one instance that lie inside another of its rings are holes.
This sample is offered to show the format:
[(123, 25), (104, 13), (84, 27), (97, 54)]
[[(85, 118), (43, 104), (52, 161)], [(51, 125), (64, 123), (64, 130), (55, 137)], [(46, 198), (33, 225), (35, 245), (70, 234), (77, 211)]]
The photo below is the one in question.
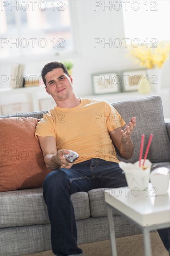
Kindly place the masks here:
[[(158, 96), (121, 101), (112, 104), (126, 122), (137, 117), (137, 126), (132, 135), (135, 145), (134, 155), (126, 162), (136, 162), (139, 158), (141, 134), (148, 141), (154, 135), (148, 159), (157, 165), (170, 162), (170, 123), (165, 123), (161, 98)], [(22, 114), (41, 118), (46, 111)], [(13, 115), (15, 116), (15, 115)], [(146, 144), (146, 143), (145, 143)], [(144, 145), (144, 151), (146, 145)], [(118, 158), (122, 160), (119, 156)], [(123, 160), (125, 161), (125, 160)], [(154, 168), (154, 165), (153, 167)], [(107, 222), (104, 198), (105, 189), (93, 189), (73, 194), (78, 244), (106, 240), (110, 238), (111, 227)], [(116, 237), (140, 233), (133, 225), (114, 213)], [(19, 256), (51, 249), (50, 222), (42, 188), (25, 189), (0, 193), (0, 255)]]

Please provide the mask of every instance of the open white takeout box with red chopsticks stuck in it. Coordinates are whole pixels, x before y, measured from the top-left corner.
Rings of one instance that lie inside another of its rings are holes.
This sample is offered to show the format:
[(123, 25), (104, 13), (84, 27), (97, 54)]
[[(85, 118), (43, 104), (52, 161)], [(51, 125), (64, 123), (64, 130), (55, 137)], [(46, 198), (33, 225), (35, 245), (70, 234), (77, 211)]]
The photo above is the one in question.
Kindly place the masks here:
[[(143, 164), (141, 160), (141, 165)], [(128, 187), (130, 189), (144, 190), (148, 187), (150, 181), (150, 167), (151, 162), (146, 159), (144, 166), (146, 169), (139, 167), (139, 161), (135, 163), (119, 162), (119, 167), (124, 171)]]

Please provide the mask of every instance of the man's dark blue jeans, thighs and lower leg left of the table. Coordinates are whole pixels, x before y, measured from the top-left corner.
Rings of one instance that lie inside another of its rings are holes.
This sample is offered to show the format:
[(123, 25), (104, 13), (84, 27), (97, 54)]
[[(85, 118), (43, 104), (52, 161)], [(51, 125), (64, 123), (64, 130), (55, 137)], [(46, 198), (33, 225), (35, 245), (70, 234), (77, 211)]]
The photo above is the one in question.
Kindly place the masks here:
[(43, 195), (51, 222), (52, 251), (57, 256), (81, 254), (77, 246), (77, 229), (70, 195), (97, 188), (127, 186), (118, 163), (93, 158), (49, 173)]

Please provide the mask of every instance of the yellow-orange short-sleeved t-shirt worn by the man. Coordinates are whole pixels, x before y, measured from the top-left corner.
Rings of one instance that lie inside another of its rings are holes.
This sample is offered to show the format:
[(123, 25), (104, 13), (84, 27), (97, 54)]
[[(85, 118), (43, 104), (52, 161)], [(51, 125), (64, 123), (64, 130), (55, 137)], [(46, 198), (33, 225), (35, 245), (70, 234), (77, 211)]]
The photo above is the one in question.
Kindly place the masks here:
[(106, 101), (80, 99), (75, 108), (55, 106), (38, 122), (35, 137), (53, 136), (57, 150), (76, 151), (78, 162), (90, 158), (119, 162), (109, 132), (125, 122)]

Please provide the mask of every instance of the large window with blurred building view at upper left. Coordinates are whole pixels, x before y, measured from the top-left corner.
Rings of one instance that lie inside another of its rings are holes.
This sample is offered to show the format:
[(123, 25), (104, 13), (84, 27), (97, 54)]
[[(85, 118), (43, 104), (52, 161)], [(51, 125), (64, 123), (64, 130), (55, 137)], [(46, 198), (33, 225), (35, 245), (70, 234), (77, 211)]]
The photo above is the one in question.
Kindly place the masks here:
[(73, 50), (68, 0), (1, 1), (1, 57)]

